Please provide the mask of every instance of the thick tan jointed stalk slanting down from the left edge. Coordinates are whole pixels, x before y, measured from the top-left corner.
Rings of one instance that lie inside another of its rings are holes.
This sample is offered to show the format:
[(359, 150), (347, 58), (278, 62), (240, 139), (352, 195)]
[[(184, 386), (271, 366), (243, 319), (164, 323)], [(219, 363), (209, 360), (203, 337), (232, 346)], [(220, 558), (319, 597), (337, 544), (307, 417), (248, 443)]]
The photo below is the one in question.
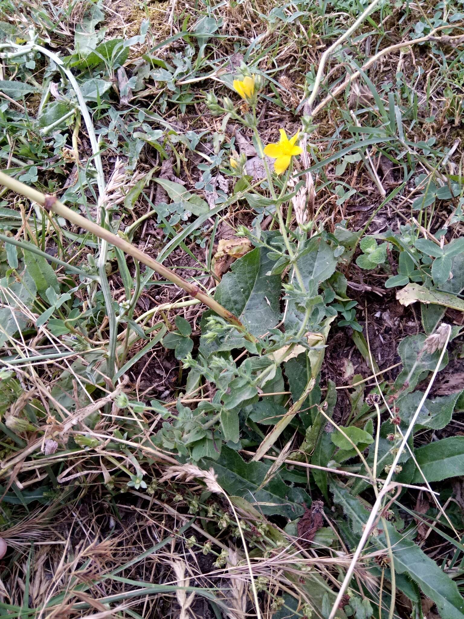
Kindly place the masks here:
[(64, 219), (67, 219), (69, 222), (74, 223), (74, 225), (77, 225), (80, 228), (84, 228), (84, 230), (87, 230), (87, 232), (90, 232), (93, 235), (98, 236), (98, 238), (107, 241), (111, 245), (118, 247), (119, 249), (121, 249), (121, 251), (124, 251), (124, 253), (132, 256), (132, 258), (134, 258), (135, 260), (138, 260), (139, 262), (142, 262), (142, 264), (145, 264), (147, 267), (150, 267), (150, 269), (153, 269), (153, 271), (157, 272), (158, 275), (161, 275), (161, 277), (165, 277), (179, 288), (183, 288), (183, 290), (185, 290), (191, 297), (196, 298), (205, 305), (207, 305), (208, 308), (215, 311), (218, 316), (221, 316), (226, 321), (230, 322), (230, 324), (233, 324), (235, 327), (237, 327), (237, 329), (239, 329), (239, 331), (243, 331), (246, 334), (246, 338), (248, 340), (252, 342), (256, 341), (254, 336), (247, 332), (244, 324), (239, 321), (239, 319), (233, 313), (228, 311), (228, 309), (225, 309), (222, 305), (220, 305), (220, 303), (210, 297), (210, 295), (201, 292), (197, 285), (187, 282), (183, 279), (183, 277), (179, 277), (179, 275), (176, 275), (170, 269), (163, 266), (163, 264), (161, 264), (160, 262), (153, 260), (153, 258), (145, 254), (143, 251), (140, 251), (140, 249), (134, 247), (133, 245), (131, 245), (131, 243), (128, 243), (120, 236), (117, 236), (113, 234), (113, 232), (110, 232), (110, 230), (106, 230), (97, 223), (91, 222), (85, 217), (82, 217), (82, 215), (79, 215), (79, 213), (76, 213), (74, 212), (74, 210), (71, 210), (67, 206), (64, 206), (64, 204), (62, 204), (62, 202), (60, 202), (56, 197), (45, 195), (40, 191), (37, 191), (37, 189), (33, 189), (32, 187), (21, 183), (15, 178), (8, 176), (2, 171), (0, 171), (0, 184), (7, 187), (8, 189), (11, 189), (11, 191), (14, 191), (15, 193), (20, 194), (21, 196), (27, 197), (33, 202), (37, 202), (37, 204), (40, 204), (40, 206), (42, 206), (45, 210), (51, 211), (56, 215), (64, 217)]

